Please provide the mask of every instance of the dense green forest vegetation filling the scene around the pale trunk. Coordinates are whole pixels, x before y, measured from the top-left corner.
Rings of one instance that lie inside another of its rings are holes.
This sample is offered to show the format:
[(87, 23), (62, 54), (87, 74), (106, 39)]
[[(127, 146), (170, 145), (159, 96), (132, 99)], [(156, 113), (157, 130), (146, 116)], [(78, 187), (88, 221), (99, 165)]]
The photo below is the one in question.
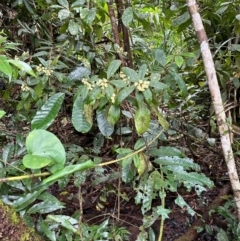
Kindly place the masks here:
[[(235, 127), (239, 3), (199, 1)], [(44, 240), (130, 240), (120, 222), (121, 203), (129, 201), (121, 186), (134, 190), (141, 209), (138, 241), (162, 240), (168, 193), (196, 214), (179, 188), (201, 197), (214, 182), (201, 172), (190, 145), (178, 140), (186, 134), (215, 148), (218, 134), (191, 23), (185, 1), (0, 4), (0, 178), (8, 178), (0, 182), (0, 197)], [(53, 191), (69, 192), (69, 185), (79, 202), (73, 214), (64, 213), (67, 204)], [(114, 196), (117, 208), (92, 225), (82, 207), (97, 185), (99, 200)], [(230, 228), (212, 235), (238, 240), (230, 201), (216, 211)]]

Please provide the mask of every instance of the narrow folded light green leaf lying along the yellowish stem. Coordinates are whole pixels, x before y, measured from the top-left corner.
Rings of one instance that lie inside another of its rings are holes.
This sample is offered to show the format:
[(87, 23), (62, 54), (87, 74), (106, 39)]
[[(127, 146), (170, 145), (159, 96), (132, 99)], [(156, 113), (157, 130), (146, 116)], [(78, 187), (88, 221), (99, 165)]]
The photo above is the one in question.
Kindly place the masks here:
[(84, 171), (89, 168), (94, 167), (94, 162), (91, 160), (85, 161), (84, 163), (81, 164), (76, 164), (76, 165), (69, 165), (64, 167), (62, 170), (55, 172), (53, 175), (50, 177), (46, 178), (43, 180), (43, 183), (49, 183), (49, 182), (55, 182), (58, 181), (60, 178), (65, 177), (69, 174), (78, 172), (78, 171)]

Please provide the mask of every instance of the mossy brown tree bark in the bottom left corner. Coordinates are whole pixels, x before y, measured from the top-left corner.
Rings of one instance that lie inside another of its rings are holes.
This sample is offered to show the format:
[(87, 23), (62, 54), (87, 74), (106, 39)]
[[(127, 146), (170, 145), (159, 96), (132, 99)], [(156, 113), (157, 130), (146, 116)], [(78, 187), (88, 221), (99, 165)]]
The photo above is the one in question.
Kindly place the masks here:
[(0, 200), (1, 241), (44, 241), (35, 230), (28, 227), (14, 209)]

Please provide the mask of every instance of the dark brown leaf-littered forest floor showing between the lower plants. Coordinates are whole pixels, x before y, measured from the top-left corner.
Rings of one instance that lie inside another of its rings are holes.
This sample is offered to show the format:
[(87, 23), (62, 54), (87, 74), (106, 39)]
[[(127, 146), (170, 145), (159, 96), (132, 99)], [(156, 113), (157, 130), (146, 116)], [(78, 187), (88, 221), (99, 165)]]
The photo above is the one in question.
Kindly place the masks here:
[[(3, 119), (3, 122), (6, 124), (7, 119), (8, 118), (5, 118), (5, 120)], [(74, 130), (71, 123), (65, 123), (64, 126), (62, 126), (61, 120), (58, 119), (55, 121), (50, 130), (61, 139), (63, 144), (68, 146), (74, 144), (84, 148), (90, 148), (92, 146), (93, 135), (79, 134)], [(189, 143), (193, 146), (193, 141), (188, 138), (189, 136), (183, 135), (182, 138), (175, 142), (169, 142), (167, 145), (189, 148)], [(13, 137), (11, 137), (10, 140), (12, 141)], [(9, 139), (7, 139), (7, 141), (9, 141)], [(6, 143), (4, 143), (4, 145), (5, 144)], [(111, 160), (115, 158), (115, 156), (111, 156), (111, 145), (114, 144), (115, 143), (113, 142), (106, 142), (104, 144), (104, 147), (101, 149), (102, 152), (99, 154), (103, 160)], [(179, 194), (197, 213), (194, 216), (189, 215), (186, 209), (180, 208), (174, 203), (177, 193), (167, 193), (166, 208), (171, 209), (171, 213), (169, 214), (169, 218), (165, 220), (162, 240), (214, 241), (216, 240), (214, 236), (206, 233), (206, 231), (197, 233), (197, 228), (203, 227), (204, 225), (209, 225), (209, 227), (214, 227), (216, 225), (225, 230), (227, 229), (227, 223), (225, 223), (220, 217), (217, 215), (208, 215), (212, 208), (224, 204), (224, 199), (222, 198), (223, 196), (227, 196), (229, 194), (231, 195), (227, 169), (223, 159), (220, 143), (216, 143), (214, 148), (208, 147), (204, 143), (195, 143), (194, 151), (191, 149), (188, 157), (192, 158), (200, 165), (201, 171), (214, 182), (215, 186), (211, 189), (207, 189), (201, 196), (197, 196), (195, 191), (187, 192), (185, 188), (179, 188)], [(117, 165), (112, 165), (106, 171), (108, 174), (110, 172), (113, 173), (117, 171), (117, 168)], [(116, 225), (126, 227), (131, 233), (130, 240), (135, 241), (143, 219), (141, 207), (135, 204), (135, 191), (130, 185), (126, 185), (123, 182), (119, 184), (119, 179), (116, 178), (115, 180), (111, 180), (111, 185), (115, 186), (116, 190), (120, 187), (121, 193), (124, 193), (128, 197), (128, 201), (122, 200), (118, 206), (117, 195), (116, 193), (113, 193), (112, 195), (108, 195), (107, 200), (104, 203), (101, 203), (101, 190), (103, 190), (104, 186), (108, 184), (106, 182), (92, 185), (91, 177), (89, 177), (85, 184), (82, 185), (81, 190), (84, 200), (82, 207), (83, 222), (94, 225), (102, 223), (106, 220), (106, 218), (110, 218)], [(61, 214), (72, 215), (75, 211), (79, 210), (79, 189), (74, 186), (73, 180), (71, 180), (64, 189), (59, 188), (57, 184), (54, 184), (50, 188), (50, 191), (60, 201), (66, 204), (66, 208), (62, 210)], [(157, 206), (159, 204), (160, 200), (154, 200), (152, 206)], [(157, 220), (153, 224), (152, 228), (157, 236), (160, 228), (160, 220)]]

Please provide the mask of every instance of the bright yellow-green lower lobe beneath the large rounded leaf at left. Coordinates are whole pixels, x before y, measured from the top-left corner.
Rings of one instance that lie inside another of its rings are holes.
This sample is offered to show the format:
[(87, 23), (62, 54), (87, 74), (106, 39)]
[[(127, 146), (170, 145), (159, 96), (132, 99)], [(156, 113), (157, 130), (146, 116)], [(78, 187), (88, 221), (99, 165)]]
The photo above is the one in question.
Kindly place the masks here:
[(40, 169), (53, 163), (50, 157), (27, 154), (23, 157), (23, 165), (30, 169)]

